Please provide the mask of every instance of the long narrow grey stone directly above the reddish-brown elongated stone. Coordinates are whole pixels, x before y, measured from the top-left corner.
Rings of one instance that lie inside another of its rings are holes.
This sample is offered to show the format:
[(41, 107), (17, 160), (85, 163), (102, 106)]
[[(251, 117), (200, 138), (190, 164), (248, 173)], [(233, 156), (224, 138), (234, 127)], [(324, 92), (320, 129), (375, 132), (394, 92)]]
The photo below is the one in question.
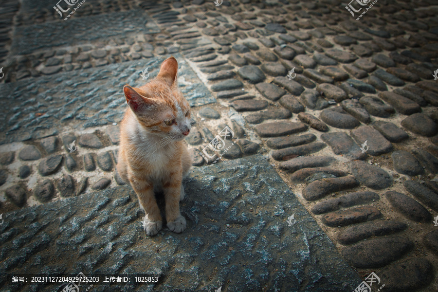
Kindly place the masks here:
[(374, 192), (349, 193), (339, 198), (319, 202), (312, 207), (311, 212), (315, 215), (319, 215), (332, 211), (337, 211), (341, 208), (371, 203), (378, 200), (380, 200), (380, 197)]

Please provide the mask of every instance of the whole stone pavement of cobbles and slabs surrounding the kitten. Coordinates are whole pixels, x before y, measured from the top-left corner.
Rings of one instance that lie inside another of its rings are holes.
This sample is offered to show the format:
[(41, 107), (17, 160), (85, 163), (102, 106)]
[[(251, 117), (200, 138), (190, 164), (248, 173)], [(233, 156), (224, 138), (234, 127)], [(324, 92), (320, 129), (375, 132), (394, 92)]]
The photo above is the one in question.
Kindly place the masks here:
[[(319, 292), (374, 272), (373, 292), (438, 291), (438, 5), (364, 2), (89, 0), (67, 18), (2, 1), (1, 274)], [(121, 89), (170, 55), (197, 122), (188, 227), (149, 238), (114, 172)], [(206, 163), (225, 126), (238, 142)]]

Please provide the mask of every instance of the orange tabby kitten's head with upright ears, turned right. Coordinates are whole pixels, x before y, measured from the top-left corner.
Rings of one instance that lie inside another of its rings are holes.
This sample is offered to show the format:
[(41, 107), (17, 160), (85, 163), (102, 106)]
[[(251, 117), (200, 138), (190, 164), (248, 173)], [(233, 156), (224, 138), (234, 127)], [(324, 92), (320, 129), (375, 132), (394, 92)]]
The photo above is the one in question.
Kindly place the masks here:
[(126, 101), (141, 127), (162, 138), (182, 140), (190, 132), (190, 106), (177, 85), (178, 62), (164, 60), (160, 72), (149, 83), (125, 85)]

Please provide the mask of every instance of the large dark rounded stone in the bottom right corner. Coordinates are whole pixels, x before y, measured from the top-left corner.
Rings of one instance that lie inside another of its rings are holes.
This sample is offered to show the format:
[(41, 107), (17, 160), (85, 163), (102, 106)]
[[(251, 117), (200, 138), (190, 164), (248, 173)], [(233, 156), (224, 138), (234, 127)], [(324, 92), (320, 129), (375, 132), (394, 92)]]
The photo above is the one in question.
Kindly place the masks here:
[(434, 267), (425, 258), (411, 257), (388, 265), (379, 272), (384, 289), (389, 291), (419, 291), (434, 279)]

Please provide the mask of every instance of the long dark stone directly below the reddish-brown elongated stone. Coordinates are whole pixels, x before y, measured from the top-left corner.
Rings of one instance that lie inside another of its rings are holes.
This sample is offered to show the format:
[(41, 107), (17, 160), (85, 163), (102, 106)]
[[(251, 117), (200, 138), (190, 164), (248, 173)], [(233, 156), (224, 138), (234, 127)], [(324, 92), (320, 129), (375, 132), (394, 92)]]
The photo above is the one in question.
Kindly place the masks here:
[(360, 223), (342, 230), (338, 234), (338, 240), (344, 245), (376, 236), (385, 236), (405, 230), (407, 225), (399, 221), (373, 220)]

